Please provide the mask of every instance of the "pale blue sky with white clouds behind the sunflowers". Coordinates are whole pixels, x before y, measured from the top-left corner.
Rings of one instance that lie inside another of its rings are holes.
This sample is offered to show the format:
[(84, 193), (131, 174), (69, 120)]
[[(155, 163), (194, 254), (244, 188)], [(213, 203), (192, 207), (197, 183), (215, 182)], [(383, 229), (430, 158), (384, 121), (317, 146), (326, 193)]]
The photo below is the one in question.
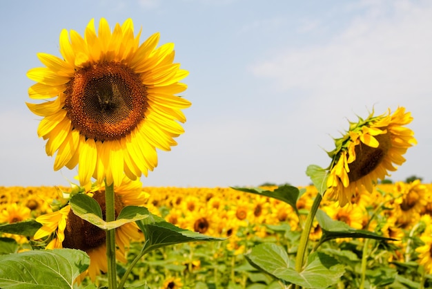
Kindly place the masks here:
[(144, 186), (311, 183), (348, 120), (411, 111), (418, 145), (391, 174), (432, 182), (432, 1), (95, 0), (0, 1), (0, 186), (77, 183), (52, 169), (41, 118), (26, 102), (37, 53), (60, 57), (63, 28), (131, 18), (141, 41), (161, 33), (189, 71), (185, 133)]

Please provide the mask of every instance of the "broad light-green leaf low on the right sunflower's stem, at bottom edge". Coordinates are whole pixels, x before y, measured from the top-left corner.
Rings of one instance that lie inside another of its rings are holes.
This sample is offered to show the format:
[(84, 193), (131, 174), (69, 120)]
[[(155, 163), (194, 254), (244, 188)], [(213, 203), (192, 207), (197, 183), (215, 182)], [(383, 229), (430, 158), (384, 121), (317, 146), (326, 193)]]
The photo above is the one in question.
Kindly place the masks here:
[(254, 247), (246, 259), (273, 277), (304, 288), (327, 288), (344, 274), (344, 265), (326, 254), (315, 252), (308, 257), (306, 268), (297, 272), (284, 248), (264, 243)]

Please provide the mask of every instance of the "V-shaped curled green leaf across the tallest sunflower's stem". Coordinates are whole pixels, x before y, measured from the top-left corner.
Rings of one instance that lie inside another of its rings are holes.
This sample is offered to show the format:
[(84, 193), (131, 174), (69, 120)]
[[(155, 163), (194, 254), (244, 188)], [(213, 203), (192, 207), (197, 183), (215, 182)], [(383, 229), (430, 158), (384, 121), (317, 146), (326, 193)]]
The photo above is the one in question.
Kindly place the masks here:
[(102, 230), (111, 230), (120, 227), (126, 223), (135, 222), (148, 217), (148, 209), (138, 206), (124, 207), (117, 220), (106, 222), (102, 218), (102, 210), (97, 201), (86, 195), (77, 194), (70, 199), (70, 206), (74, 214), (101, 228)]

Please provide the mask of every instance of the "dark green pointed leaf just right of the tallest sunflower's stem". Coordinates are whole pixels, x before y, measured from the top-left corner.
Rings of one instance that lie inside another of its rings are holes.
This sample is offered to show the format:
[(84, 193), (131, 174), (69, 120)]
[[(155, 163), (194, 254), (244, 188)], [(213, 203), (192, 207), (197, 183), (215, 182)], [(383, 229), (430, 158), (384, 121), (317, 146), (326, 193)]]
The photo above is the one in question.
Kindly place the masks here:
[(181, 229), (168, 223), (159, 216), (150, 214), (149, 218), (137, 221), (137, 225), (146, 238), (142, 252), (150, 252), (168, 245), (188, 243), (194, 241), (224, 241), (226, 238), (217, 238)]

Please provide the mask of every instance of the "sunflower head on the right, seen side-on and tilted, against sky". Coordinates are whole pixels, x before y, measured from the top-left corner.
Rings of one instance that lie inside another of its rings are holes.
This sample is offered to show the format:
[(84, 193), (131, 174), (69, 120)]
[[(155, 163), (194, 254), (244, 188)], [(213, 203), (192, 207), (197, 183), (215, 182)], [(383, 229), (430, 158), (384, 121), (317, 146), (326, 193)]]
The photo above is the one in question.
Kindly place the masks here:
[(336, 148), (328, 155), (333, 158), (327, 179), (327, 194), (340, 206), (351, 201), (357, 187), (372, 192), (373, 184), (402, 165), (406, 149), (416, 143), (413, 131), (404, 127), (413, 118), (399, 107), (393, 114), (369, 115), (351, 122), (347, 133), (335, 140)]

